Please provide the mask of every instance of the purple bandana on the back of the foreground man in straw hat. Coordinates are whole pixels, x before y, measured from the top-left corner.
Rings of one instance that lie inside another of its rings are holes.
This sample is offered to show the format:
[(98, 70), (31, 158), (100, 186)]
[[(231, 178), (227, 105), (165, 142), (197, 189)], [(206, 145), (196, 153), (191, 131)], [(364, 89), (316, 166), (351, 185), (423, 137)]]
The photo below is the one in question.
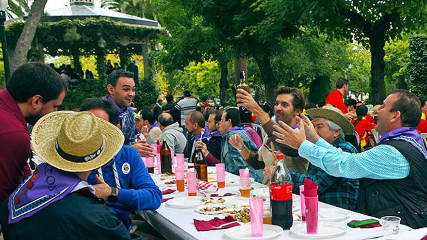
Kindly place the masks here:
[(22, 219), (57, 202), (82, 182), (82, 178), (42, 163), (28, 176), (8, 199), (9, 224), (15, 224)]

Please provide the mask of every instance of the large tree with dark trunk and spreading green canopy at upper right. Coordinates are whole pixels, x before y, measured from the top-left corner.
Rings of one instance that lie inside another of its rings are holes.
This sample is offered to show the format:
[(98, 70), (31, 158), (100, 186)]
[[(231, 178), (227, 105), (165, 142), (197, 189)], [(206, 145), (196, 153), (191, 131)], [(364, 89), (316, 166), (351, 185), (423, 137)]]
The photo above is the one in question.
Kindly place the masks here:
[(371, 51), (371, 101), (381, 102), (384, 88), (384, 46), (387, 40), (401, 37), (426, 19), (426, 0), (261, 0), (269, 17), (264, 24), (280, 21), (315, 24), (321, 30), (355, 39)]

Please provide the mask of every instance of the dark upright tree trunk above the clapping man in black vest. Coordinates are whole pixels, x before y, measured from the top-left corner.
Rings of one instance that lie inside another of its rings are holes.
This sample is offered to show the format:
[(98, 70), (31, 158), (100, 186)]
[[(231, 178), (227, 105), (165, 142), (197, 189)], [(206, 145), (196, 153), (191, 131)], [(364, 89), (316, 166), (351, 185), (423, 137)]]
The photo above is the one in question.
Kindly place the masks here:
[(385, 46), (385, 30), (374, 30), (369, 38), (371, 47), (371, 94), (369, 102), (371, 104), (381, 104), (385, 99), (384, 87), (384, 46)]

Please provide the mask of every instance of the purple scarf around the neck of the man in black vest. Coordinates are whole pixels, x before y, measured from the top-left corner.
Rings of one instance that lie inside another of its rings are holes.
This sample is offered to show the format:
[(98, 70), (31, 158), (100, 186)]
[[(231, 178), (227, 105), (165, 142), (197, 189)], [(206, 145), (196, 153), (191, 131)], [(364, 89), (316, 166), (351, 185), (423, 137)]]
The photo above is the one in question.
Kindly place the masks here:
[(389, 140), (400, 140), (412, 144), (414, 147), (420, 151), (420, 153), (427, 159), (427, 152), (424, 148), (423, 140), (421, 139), (420, 134), (418, 134), (416, 128), (402, 127), (391, 130), (384, 133), (379, 139), (379, 142), (387, 142)]

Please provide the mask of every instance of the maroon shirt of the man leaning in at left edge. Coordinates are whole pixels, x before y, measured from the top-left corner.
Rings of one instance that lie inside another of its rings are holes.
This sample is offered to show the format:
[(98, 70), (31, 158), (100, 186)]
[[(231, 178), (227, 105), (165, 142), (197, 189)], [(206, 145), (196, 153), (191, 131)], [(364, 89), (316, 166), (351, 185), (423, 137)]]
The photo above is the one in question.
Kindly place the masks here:
[(0, 91), (0, 202), (31, 174), (30, 131), (21, 110), (7, 89)]

